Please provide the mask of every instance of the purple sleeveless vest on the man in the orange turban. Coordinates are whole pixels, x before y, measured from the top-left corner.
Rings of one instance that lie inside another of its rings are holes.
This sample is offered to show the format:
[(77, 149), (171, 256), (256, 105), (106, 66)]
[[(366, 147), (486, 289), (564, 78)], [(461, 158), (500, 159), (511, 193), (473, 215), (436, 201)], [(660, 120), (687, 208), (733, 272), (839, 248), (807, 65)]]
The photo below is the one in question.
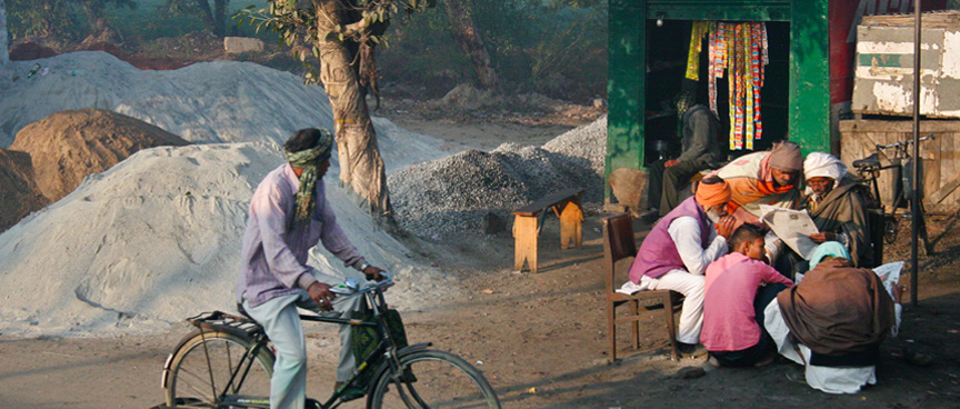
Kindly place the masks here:
[(700, 246), (704, 249), (710, 246), (710, 220), (707, 219), (707, 213), (697, 205), (697, 201), (692, 197), (688, 198), (660, 219), (657, 226), (653, 226), (653, 230), (650, 230), (650, 233), (643, 239), (640, 251), (637, 252), (637, 258), (630, 266), (630, 281), (640, 283), (640, 278), (643, 276), (659, 278), (670, 270), (687, 269), (683, 266), (683, 259), (680, 258), (680, 252), (677, 251), (673, 238), (667, 230), (673, 220), (681, 217), (696, 219), (700, 223)]

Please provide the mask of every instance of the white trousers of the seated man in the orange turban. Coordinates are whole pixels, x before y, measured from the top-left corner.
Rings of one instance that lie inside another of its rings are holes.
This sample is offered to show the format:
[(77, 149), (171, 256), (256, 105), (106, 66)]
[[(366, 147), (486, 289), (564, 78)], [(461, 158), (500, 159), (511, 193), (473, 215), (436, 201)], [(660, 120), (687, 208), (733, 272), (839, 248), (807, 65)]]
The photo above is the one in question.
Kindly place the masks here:
[(686, 270), (670, 270), (659, 278), (643, 276), (641, 286), (646, 282), (651, 290), (673, 290), (682, 293), (683, 310), (680, 312), (680, 325), (677, 326), (677, 340), (683, 343), (700, 343), (700, 329), (703, 328), (703, 276), (696, 276)]

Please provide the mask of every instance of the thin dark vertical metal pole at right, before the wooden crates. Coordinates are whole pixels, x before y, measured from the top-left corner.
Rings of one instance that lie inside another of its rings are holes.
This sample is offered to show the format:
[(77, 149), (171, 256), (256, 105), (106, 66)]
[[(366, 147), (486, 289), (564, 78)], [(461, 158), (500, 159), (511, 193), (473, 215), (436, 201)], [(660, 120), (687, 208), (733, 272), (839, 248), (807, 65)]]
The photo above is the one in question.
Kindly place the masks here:
[[(922, 74), (922, 70), (920, 69), (920, 30), (921, 30), (921, 16), (920, 16), (920, 0), (913, 0), (913, 177), (911, 178), (911, 194), (912, 200), (910, 202), (910, 211), (913, 217), (911, 217), (910, 221), (913, 228), (910, 231), (910, 263), (912, 265), (912, 272), (910, 275), (910, 305), (913, 307), (918, 306), (917, 302), (917, 276), (920, 272), (917, 262), (917, 245), (920, 241), (918, 235), (920, 232), (920, 189), (918, 180), (922, 178), (920, 173), (920, 92), (922, 89), (920, 88), (920, 76)], [(896, 210), (896, 209), (894, 209)]]

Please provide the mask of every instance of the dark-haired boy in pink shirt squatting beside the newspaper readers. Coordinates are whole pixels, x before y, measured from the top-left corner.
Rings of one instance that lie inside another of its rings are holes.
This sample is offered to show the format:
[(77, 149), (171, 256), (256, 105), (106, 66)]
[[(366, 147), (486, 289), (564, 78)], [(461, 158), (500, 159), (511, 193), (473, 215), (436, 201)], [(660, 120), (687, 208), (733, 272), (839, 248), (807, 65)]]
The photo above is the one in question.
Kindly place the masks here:
[(763, 329), (763, 308), (793, 282), (760, 261), (763, 235), (744, 223), (730, 236), (732, 252), (707, 267), (700, 342), (724, 367), (756, 365), (776, 349)]

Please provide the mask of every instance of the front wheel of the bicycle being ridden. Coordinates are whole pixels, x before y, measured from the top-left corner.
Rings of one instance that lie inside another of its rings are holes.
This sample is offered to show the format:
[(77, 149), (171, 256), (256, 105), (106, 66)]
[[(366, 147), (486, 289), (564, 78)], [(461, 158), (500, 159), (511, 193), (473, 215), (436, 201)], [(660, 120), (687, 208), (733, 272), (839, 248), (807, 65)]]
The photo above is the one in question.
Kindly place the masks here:
[(456, 355), (413, 351), (400, 357), (400, 365), (406, 370), (398, 379), (388, 370), (374, 381), (368, 408), (500, 408), (483, 375)]

